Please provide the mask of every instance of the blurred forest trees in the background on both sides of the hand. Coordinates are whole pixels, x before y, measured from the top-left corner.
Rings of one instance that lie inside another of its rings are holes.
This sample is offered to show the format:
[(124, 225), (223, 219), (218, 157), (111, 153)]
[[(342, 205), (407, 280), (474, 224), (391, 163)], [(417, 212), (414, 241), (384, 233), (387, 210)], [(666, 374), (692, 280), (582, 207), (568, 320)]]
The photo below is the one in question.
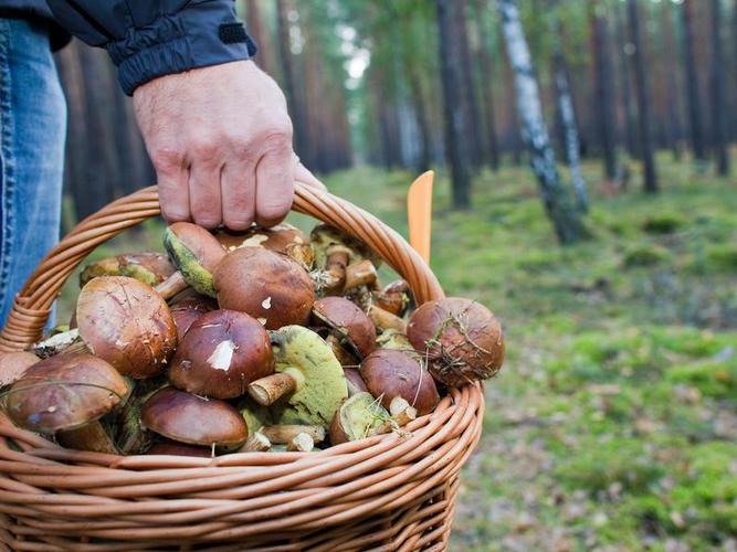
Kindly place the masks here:
[[(529, 114), (518, 110), (496, 1), (238, 6), (259, 42), (257, 63), (285, 92), (306, 166), (329, 172), (361, 162), (413, 171), (446, 164), (453, 205), (467, 209), (478, 171), (536, 163), (520, 139)], [(554, 130), (550, 146), (573, 176), (577, 157), (597, 158), (618, 189), (642, 166), (645, 189), (655, 191), (659, 148), (689, 156), (699, 170), (728, 172), (737, 138), (737, 0), (516, 6), (539, 123)], [(59, 61), (70, 105), (67, 190), (84, 215), (154, 174), (105, 55), (75, 43)]]

